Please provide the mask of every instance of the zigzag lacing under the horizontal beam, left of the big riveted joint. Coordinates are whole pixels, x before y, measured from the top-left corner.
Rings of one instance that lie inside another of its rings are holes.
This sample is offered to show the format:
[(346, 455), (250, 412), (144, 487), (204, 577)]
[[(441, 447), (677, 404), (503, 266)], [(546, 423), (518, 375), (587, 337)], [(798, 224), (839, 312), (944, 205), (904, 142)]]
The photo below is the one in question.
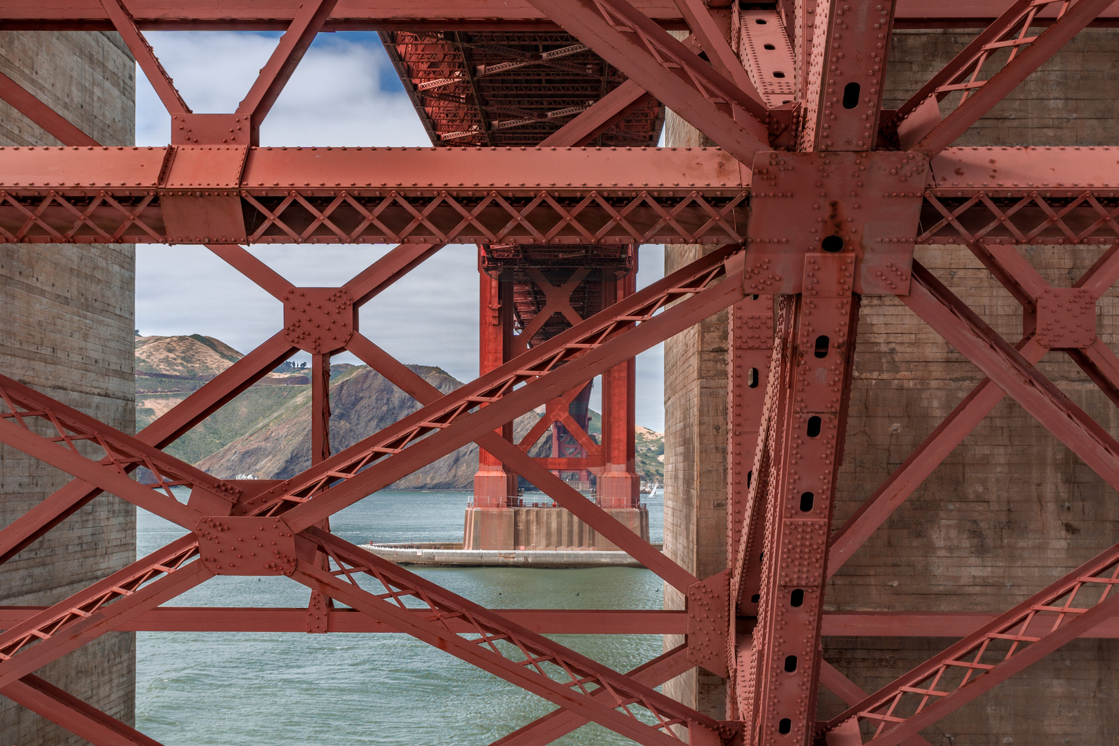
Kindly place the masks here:
[[(269, 207), (264, 202), (276, 195), (242, 191), (258, 216), (248, 223), (247, 243), (450, 243), (462, 236), (492, 243), (529, 238), (538, 244), (741, 243), (735, 211), (749, 197), (745, 190), (715, 198), (694, 190), (656, 198), (645, 190), (618, 190), (613, 196), (591, 190), (564, 206), (556, 195), (540, 190), (517, 207), (496, 190), (479, 190), (477, 202), (446, 191), (369, 197), (342, 190), (329, 204), (316, 206), (320, 196), (312, 192), (285, 191)], [(51, 190), (41, 198), (0, 190), (0, 206), (15, 209), (23, 220), (19, 228), (0, 226), (0, 242), (166, 243), (166, 232), (153, 227), (161, 219), (157, 192), (141, 195), (130, 207), (105, 190), (93, 197)]]

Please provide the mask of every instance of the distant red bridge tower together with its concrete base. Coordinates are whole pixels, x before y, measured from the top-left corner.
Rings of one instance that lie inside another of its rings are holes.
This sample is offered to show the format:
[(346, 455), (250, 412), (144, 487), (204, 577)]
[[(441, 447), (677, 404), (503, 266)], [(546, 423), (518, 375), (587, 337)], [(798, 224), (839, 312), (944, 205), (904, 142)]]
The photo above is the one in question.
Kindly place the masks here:
[[(480, 371), (500, 367), (632, 294), (636, 256), (633, 246), (479, 246)], [(542, 437), (551, 437), (548, 454), (537, 460), (576, 489), (593, 492), (599, 506), (648, 540), (649, 513), (634, 471), (634, 366), (630, 358), (602, 375), (598, 438), (589, 426), (591, 380), (548, 402), (517, 445), (527, 453)], [(513, 423), (500, 433), (513, 442)], [(485, 448), (479, 452), (464, 548), (617, 550), (551, 499), (520, 498), (517, 483), (517, 474), (499, 459)]]

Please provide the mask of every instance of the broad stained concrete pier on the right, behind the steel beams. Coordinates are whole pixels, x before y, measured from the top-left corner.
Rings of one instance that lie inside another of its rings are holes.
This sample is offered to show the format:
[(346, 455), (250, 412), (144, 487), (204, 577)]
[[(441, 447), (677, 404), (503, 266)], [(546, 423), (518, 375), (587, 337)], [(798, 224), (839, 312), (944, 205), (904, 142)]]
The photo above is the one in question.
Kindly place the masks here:
[[(974, 30), (895, 31), (883, 106), (892, 108), (941, 69)], [(1113, 145), (1119, 29), (1081, 31), (956, 145)], [(673, 113), (666, 144), (703, 135)], [(674, 271), (714, 246), (669, 246)], [(1104, 247), (1021, 246), (1047, 282), (1068, 287)], [(916, 258), (1010, 343), (1022, 310), (963, 246), (922, 245)], [(1100, 299), (1098, 333), (1119, 341), (1116, 290)], [(726, 567), (727, 314), (665, 344), (665, 554), (698, 577)], [(1063, 353), (1038, 369), (1103, 428), (1119, 409)], [(982, 372), (900, 300), (863, 298), (843, 468), (833, 528), (844, 521), (937, 427)], [(745, 454), (747, 462), (753, 454)], [(742, 462), (740, 462), (742, 464)], [(743, 471), (749, 465), (741, 466)], [(1017, 403), (1006, 397), (829, 580), (825, 613), (1000, 613), (1116, 541), (1115, 492)], [(668, 608), (683, 608), (665, 588)], [(683, 642), (666, 639), (666, 650)], [(824, 639), (824, 658), (865, 691), (939, 653), (942, 638)], [(934, 746), (1119, 743), (1117, 640), (1075, 640), (922, 731)], [(665, 692), (716, 718), (725, 682), (702, 669)], [(817, 716), (843, 709), (820, 696)], [(915, 742), (914, 742), (915, 743)]]

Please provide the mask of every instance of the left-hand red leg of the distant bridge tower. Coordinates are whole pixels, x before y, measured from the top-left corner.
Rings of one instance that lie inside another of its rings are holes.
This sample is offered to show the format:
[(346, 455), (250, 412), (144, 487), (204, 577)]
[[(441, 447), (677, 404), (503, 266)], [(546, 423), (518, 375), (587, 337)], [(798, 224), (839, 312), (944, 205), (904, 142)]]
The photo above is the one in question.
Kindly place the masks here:
[[(486, 375), (498, 368), (510, 358), (513, 349), (513, 282), (502, 273), (501, 280), (495, 280), (481, 270), (482, 248), (478, 248), (481, 282), (479, 289), (479, 319), (481, 325), (478, 334), (480, 350), (479, 375)], [(485, 406), (485, 405), (483, 405)], [(497, 433), (513, 442), (513, 423), (506, 423)], [(510, 472), (498, 459), (483, 448), (478, 451), (478, 472), (474, 474), (474, 507), (507, 508), (517, 495), (517, 475)]]

